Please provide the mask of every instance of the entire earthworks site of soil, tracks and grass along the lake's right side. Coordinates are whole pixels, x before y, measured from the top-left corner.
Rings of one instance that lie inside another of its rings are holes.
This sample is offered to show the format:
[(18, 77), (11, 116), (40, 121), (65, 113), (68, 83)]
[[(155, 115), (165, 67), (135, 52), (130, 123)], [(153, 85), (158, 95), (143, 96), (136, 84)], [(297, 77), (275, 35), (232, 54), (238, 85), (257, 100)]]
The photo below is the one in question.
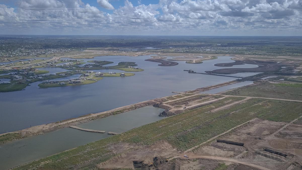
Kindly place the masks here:
[[(159, 62), (160, 66), (177, 65), (174, 61), (164, 60), (166, 58), (163, 56), (152, 56), (152, 58), (147, 61)], [(196, 57), (196, 59), (202, 58)], [(261, 64), (262, 66), (233, 70), (219, 69), (202, 73), (188, 69), (185, 71), (188, 71), (190, 76), (198, 77), (200, 74), (207, 74), (238, 79), (185, 92), (172, 92), (173, 95), (170, 96), (8, 133), (6, 134), (8, 136), (18, 134), (25, 138), (61, 128), (73, 128), (112, 135), (14, 168), (301, 169), (302, 83), (300, 81), (302, 78), (301, 70), (298, 70), (301, 67), (297, 67), (298, 61), (295, 63), (283, 59), (282, 63), (280, 61), (265, 62), (259, 59), (259, 62), (255, 62), (255, 60), (242, 61), (237, 58), (231, 65)], [(220, 63), (221, 67), (229, 65)], [(245, 72), (247, 69), (251, 72), (263, 73), (252, 77), (221, 75)], [(265, 79), (275, 74), (275, 77)], [(252, 80), (251, 84), (219, 93), (207, 93), (208, 90), (246, 80)], [(145, 106), (164, 109), (158, 113), (162, 119), (122, 133), (111, 132), (110, 129), (103, 131), (104, 129), (77, 127), (95, 119)], [(8, 137), (3, 143), (18, 139), (20, 137)]]

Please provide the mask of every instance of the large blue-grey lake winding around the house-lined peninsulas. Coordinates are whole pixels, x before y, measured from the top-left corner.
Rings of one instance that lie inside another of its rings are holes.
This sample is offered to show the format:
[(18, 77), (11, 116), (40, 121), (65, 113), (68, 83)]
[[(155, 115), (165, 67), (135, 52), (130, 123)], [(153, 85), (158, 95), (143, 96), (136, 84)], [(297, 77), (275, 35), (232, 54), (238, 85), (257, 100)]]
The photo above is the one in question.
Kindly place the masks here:
[[(214, 64), (233, 62), (229, 56), (218, 57), (216, 60), (205, 60), (202, 64), (186, 64), (184, 61), (178, 61), (179, 64), (172, 67), (158, 66), (159, 63), (144, 61), (150, 56), (99, 56), (94, 59), (81, 59), (85, 61), (113, 61), (114, 63), (110, 65), (116, 65), (121, 61), (136, 62), (137, 67), (144, 69), (144, 71), (134, 72), (136, 75), (131, 77), (104, 77), (104, 79), (92, 84), (46, 89), (38, 88), (37, 85), (40, 82), (34, 82), (25, 90), (0, 93), (0, 133), (74, 118), (88, 113), (111, 110), (120, 106), (172, 95), (172, 91), (193, 90), (236, 79), (189, 74), (183, 71), (192, 69), (197, 72), (204, 72), (228, 68), (217, 67)], [(258, 66), (244, 64), (233, 67), (252, 68)], [(66, 71), (62, 68), (42, 69), (49, 70), (51, 73)], [(108, 71), (112, 70), (101, 70), (101, 72)], [(254, 74), (257, 73), (233, 75), (245, 77)]]

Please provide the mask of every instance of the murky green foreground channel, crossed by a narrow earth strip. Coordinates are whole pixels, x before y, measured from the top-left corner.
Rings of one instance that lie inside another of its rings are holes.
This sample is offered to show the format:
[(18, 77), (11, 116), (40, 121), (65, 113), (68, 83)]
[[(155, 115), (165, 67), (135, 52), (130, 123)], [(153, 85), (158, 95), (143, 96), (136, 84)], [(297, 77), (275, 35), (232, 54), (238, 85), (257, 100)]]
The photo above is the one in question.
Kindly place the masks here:
[[(157, 115), (163, 110), (153, 106), (146, 106), (126, 113), (97, 119), (79, 125), (79, 127), (121, 133), (163, 119), (163, 117)], [(0, 169), (12, 168), (109, 136), (111, 135), (107, 133), (102, 134), (64, 128), (40, 136), (0, 145)]]

